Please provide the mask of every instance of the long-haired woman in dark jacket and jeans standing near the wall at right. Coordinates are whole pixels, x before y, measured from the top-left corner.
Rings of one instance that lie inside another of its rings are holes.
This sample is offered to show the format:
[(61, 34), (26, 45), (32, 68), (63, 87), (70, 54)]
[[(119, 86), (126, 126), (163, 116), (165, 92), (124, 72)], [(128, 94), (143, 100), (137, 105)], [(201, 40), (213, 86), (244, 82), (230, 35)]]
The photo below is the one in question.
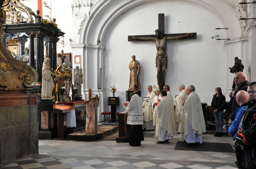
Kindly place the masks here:
[[(221, 88), (215, 89), (215, 95), (212, 98), (212, 110), (215, 118), (216, 134), (214, 137), (221, 137), (223, 135), (223, 113), (226, 105), (226, 98), (222, 94)], [(220, 132), (219, 132), (220, 128)]]

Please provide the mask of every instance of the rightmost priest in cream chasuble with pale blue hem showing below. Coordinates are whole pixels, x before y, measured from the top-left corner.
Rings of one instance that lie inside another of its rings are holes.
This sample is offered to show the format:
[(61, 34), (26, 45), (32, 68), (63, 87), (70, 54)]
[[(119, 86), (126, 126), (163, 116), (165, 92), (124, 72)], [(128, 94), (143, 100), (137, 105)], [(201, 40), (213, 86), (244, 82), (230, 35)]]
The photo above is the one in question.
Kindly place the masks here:
[(198, 147), (202, 143), (202, 133), (206, 132), (201, 101), (195, 87), (190, 85), (187, 90), (187, 99), (183, 99), (185, 121), (184, 135), (186, 136), (186, 147)]

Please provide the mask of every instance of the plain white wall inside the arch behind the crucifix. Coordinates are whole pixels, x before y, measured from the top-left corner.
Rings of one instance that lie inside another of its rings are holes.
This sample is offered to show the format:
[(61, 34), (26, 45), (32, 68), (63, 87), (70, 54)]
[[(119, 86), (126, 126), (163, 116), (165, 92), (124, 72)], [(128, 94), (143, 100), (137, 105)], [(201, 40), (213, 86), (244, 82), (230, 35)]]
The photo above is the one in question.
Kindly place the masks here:
[[(154, 7), (154, 10), (153, 10)], [(166, 84), (171, 87), (173, 96), (178, 94), (178, 86), (194, 84), (202, 102), (211, 104), (216, 87), (226, 87), (226, 47), (223, 40), (212, 39), (224, 31), (216, 33), (221, 23), (211, 13), (201, 7), (185, 2), (151, 2), (127, 11), (110, 26), (106, 33), (105, 50), (105, 89), (111, 96), (110, 84), (117, 88), (116, 96), (120, 103), (125, 101), (125, 91), (129, 87), (129, 62), (136, 55), (140, 62), (142, 97), (147, 94), (147, 85), (156, 85), (154, 41), (128, 42), (128, 35), (154, 34), (158, 28), (158, 13), (165, 13), (165, 33), (197, 32), (196, 40), (168, 41), (168, 68)], [(112, 66), (114, 65), (114, 66)], [(108, 108), (110, 109), (110, 108)], [(120, 110), (124, 107), (119, 106)]]

